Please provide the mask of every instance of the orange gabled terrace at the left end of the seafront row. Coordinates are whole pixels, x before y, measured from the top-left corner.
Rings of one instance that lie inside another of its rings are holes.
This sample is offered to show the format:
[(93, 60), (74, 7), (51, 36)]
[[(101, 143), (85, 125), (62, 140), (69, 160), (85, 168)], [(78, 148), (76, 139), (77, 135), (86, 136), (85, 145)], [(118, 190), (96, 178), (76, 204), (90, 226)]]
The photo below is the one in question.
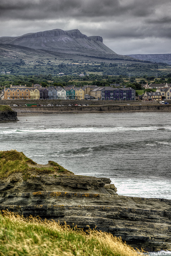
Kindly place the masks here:
[(30, 99), (30, 88), (11, 87), (4, 88), (4, 100)]

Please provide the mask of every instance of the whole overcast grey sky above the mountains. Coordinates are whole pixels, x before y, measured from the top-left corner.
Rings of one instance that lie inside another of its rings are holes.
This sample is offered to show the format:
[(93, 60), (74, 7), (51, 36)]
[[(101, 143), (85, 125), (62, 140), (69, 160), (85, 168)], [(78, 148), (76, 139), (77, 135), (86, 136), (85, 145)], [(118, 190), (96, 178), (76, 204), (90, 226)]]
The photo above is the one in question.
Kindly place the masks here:
[(77, 28), (117, 54), (171, 53), (171, 0), (1, 0), (0, 14), (0, 36)]

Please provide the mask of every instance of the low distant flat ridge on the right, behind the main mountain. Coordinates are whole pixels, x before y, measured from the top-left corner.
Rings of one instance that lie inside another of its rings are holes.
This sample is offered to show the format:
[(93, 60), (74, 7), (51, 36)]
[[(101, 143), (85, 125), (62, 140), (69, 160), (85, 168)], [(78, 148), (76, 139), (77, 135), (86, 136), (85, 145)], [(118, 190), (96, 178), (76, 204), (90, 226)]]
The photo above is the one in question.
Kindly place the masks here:
[(171, 54), (130, 54), (126, 55), (139, 60), (149, 60), (153, 62), (164, 62), (171, 65)]

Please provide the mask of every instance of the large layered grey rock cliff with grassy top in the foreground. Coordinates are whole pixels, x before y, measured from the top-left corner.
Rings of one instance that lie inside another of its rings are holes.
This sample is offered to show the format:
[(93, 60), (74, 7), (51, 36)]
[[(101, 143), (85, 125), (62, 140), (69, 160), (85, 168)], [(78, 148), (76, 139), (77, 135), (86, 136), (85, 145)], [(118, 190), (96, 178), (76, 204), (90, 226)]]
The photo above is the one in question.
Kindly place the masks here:
[(74, 175), (53, 161), (39, 165), (15, 150), (0, 152), (0, 174), (1, 210), (96, 227), (147, 251), (171, 250), (171, 200), (118, 195), (109, 178)]

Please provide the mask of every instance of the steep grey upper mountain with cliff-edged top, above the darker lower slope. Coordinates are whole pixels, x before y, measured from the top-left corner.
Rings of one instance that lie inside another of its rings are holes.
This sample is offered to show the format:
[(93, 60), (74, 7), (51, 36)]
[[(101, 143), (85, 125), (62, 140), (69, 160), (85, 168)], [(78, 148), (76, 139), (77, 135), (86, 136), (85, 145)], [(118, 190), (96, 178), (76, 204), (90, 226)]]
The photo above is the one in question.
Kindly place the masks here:
[(102, 37), (88, 37), (78, 29), (68, 31), (53, 29), (29, 33), (18, 37), (0, 37), (0, 43), (70, 54), (78, 53), (95, 56), (106, 54), (116, 55), (114, 51), (103, 44)]

